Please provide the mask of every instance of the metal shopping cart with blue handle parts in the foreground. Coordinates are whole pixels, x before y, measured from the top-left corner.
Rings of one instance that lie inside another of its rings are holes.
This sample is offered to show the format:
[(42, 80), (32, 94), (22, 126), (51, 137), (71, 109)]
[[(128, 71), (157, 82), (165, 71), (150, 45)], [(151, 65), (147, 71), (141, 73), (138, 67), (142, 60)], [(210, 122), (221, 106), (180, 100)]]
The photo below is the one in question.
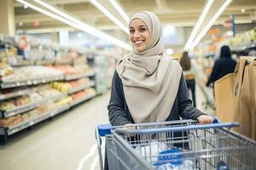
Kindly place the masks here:
[(101, 169), (106, 137), (111, 170), (256, 169), (256, 142), (230, 130), (239, 123), (198, 124), (193, 120), (139, 123), (126, 128), (99, 125)]

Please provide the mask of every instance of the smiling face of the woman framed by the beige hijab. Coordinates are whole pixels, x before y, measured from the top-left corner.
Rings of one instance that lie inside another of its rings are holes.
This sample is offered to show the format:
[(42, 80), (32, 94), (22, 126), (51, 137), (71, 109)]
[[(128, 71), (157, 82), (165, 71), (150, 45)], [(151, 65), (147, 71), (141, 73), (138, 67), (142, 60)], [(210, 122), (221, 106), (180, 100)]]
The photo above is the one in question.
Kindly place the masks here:
[(129, 29), (132, 47), (135, 48), (137, 52), (142, 52), (148, 48), (150, 42), (150, 33), (143, 20), (131, 20)]

